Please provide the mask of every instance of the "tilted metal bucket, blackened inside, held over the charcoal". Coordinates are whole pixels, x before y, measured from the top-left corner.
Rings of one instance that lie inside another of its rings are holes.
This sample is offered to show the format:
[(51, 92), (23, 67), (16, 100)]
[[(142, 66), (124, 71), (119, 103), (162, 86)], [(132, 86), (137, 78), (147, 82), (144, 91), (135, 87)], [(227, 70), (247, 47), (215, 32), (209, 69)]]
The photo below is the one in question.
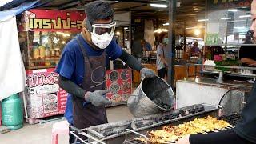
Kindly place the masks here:
[(162, 78), (143, 78), (140, 85), (127, 101), (127, 106), (134, 117), (172, 110), (174, 92)]

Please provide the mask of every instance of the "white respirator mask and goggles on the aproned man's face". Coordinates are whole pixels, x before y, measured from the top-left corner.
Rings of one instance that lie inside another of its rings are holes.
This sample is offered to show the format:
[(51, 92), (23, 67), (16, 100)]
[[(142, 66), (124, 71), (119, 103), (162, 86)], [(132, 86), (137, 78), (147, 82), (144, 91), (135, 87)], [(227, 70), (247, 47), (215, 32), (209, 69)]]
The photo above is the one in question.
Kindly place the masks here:
[[(110, 45), (110, 42), (112, 41), (112, 38), (114, 36), (115, 25), (116, 25), (115, 22), (111, 24), (92, 25), (93, 31), (91, 32), (91, 40), (94, 43), (94, 45), (98, 46), (98, 48), (100, 49), (106, 49), (106, 47)], [(109, 30), (104, 34), (98, 34), (100, 33), (99, 29), (109, 29)]]

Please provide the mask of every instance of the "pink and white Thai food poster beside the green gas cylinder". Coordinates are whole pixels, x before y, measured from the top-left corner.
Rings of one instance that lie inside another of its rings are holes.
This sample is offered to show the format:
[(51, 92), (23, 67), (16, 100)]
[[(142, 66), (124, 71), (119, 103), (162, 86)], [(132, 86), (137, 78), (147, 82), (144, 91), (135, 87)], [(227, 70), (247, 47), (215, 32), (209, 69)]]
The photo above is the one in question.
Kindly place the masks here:
[(54, 68), (27, 70), (26, 104), (29, 118), (64, 114), (67, 93), (58, 86)]

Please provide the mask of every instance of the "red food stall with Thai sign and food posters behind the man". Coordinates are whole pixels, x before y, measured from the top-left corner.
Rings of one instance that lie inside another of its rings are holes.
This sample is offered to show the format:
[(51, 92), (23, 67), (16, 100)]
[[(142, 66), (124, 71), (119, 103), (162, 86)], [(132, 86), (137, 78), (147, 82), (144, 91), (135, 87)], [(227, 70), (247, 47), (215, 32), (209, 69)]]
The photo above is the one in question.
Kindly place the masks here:
[[(27, 74), (22, 95), (29, 123), (64, 114), (67, 93), (58, 86), (54, 70), (66, 43), (81, 32), (84, 18), (78, 11), (27, 10), (22, 14), (19, 41)], [(111, 106), (125, 103), (131, 93), (130, 69), (108, 69), (106, 88), (111, 91), (107, 94)]]

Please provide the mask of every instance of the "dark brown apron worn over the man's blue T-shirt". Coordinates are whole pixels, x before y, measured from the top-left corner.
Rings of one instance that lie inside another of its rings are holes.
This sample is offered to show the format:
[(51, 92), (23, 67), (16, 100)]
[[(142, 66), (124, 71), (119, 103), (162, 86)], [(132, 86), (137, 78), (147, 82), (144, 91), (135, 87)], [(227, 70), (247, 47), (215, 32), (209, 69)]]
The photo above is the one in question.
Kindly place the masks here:
[[(79, 38), (76, 38), (84, 58), (85, 74), (82, 89), (93, 92), (106, 89), (106, 50), (100, 56), (88, 56)], [(94, 106), (83, 98), (73, 97), (74, 127), (84, 129), (107, 123), (105, 106)]]

